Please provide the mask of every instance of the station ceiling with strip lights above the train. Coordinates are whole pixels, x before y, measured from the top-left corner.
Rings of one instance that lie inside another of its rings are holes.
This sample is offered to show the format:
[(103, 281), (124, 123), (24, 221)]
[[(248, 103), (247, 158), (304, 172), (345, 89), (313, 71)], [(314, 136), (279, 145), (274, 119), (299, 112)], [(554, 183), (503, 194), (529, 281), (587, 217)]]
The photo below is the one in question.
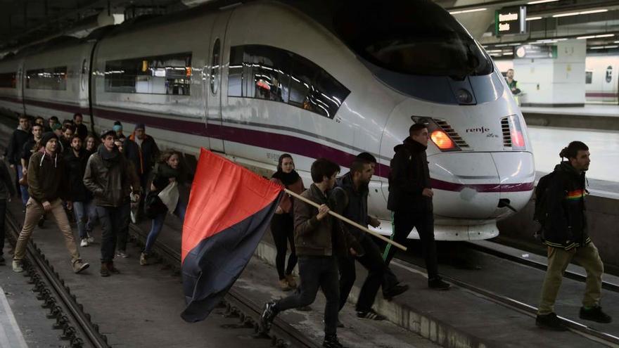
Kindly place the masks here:
[[(85, 36), (114, 18), (165, 15), (208, 0), (0, 0), (0, 53), (60, 35)], [(334, 0), (335, 1), (335, 0)], [(414, 0), (411, 0), (414, 1)], [(619, 0), (434, 0), (487, 47), (590, 37), (589, 48), (619, 45)], [(383, 4), (388, 6), (388, 1)], [(527, 7), (527, 33), (497, 37), (494, 12)], [(612, 35), (611, 35), (612, 34)]]

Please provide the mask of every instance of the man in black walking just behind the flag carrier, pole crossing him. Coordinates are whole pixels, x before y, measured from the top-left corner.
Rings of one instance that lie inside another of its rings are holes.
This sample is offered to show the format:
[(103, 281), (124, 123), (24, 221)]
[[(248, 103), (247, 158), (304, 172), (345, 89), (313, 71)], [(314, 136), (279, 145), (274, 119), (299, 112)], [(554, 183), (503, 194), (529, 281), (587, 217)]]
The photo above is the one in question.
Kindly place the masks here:
[[(369, 154), (368, 154), (369, 155)], [(373, 157), (373, 156), (372, 156)], [(367, 213), (367, 198), (368, 185), (374, 175), (372, 163), (362, 157), (357, 157), (350, 165), (350, 172), (344, 174), (336, 181), (336, 188), (331, 193), (332, 206), (344, 217), (357, 222), (362, 226), (377, 227), (379, 222), (376, 218), (370, 217)], [(371, 236), (359, 228), (344, 225), (352, 236), (355, 236), (357, 241), (362, 245), (365, 254), (361, 257), (352, 257), (349, 254), (338, 257), (338, 266), (340, 269), (340, 310), (346, 304), (352, 285), (355, 284), (357, 272), (355, 271), (355, 259), (359, 261), (368, 271), (366, 280), (364, 281), (359, 298), (357, 299), (357, 317), (373, 320), (384, 320), (385, 316), (376, 313), (372, 309), (374, 298), (378, 289), (381, 288), (385, 273), (388, 271), (388, 266), (383, 261), (381, 251), (378, 245), (374, 243)], [(397, 285), (397, 281), (393, 284), (393, 288), (383, 290), (385, 294), (394, 297), (408, 290), (407, 285)]]

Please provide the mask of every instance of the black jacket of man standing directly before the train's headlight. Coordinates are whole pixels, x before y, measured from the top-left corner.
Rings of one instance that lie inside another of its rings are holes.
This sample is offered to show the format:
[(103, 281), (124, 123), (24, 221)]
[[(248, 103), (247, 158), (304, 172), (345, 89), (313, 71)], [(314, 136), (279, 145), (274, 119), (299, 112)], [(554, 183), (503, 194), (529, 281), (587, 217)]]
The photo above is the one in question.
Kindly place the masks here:
[(387, 209), (394, 212), (431, 213), (432, 198), (421, 195), (430, 186), (426, 146), (406, 138), (393, 148)]

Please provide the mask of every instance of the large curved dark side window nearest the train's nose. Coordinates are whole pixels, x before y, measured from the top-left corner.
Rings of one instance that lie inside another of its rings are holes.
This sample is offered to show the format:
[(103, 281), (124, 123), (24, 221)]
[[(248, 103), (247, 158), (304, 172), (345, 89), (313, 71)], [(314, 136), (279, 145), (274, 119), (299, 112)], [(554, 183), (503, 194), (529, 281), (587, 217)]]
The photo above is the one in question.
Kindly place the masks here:
[(228, 96), (279, 101), (329, 118), (350, 94), (318, 65), (270, 46), (232, 47), (228, 76)]

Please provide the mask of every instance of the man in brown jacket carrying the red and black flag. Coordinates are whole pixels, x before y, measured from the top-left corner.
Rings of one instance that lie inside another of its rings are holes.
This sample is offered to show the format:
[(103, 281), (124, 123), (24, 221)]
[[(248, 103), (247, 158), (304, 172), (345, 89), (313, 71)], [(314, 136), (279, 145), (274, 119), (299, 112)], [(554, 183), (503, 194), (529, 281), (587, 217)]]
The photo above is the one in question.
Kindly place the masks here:
[(284, 299), (264, 304), (260, 316), (262, 333), (268, 333), (280, 311), (312, 304), (318, 288), (321, 288), (326, 297), (323, 347), (342, 347), (337, 337), (340, 291), (336, 257), (347, 251), (352, 255), (362, 255), (363, 250), (357, 240), (343, 229), (342, 222), (328, 214), (328, 191), (333, 188), (338, 172), (340, 166), (324, 158), (312, 163), (314, 183), (301, 195), (320, 207), (301, 200), (296, 200), (294, 205), (295, 247), (301, 277), (299, 290)]

